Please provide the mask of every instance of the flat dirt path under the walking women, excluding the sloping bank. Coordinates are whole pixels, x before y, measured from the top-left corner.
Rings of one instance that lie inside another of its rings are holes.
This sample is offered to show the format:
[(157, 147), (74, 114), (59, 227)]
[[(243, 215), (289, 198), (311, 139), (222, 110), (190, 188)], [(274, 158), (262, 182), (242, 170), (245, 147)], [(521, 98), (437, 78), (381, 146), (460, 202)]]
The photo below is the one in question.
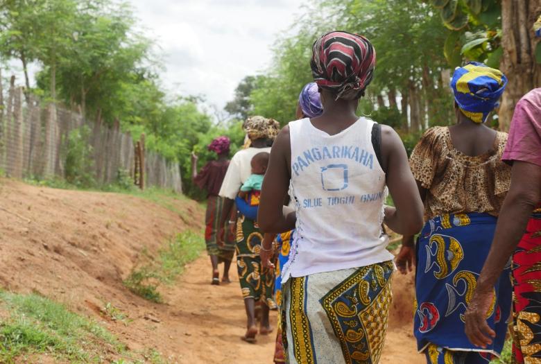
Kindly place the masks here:
[[(255, 345), (240, 340), (246, 316), (236, 271), (232, 284), (227, 286), (211, 286), (208, 281), (209, 263), (207, 257), (201, 257), (188, 266), (175, 288), (166, 294), (170, 306), (161, 313), (167, 317), (162, 329), (164, 335), (177, 339), (164, 354), (179, 363), (272, 363), (274, 335), (258, 336)], [(410, 281), (411, 277), (395, 277), (395, 304), (380, 363), (422, 363), (422, 357), (415, 352), (410, 325), (402, 324), (406, 319), (402, 313), (406, 306), (411, 311), (412, 304), (402, 302), (398, 292), (401, 287), (409, 288)], [(271, 320), (276, 322), (275, 312)]]

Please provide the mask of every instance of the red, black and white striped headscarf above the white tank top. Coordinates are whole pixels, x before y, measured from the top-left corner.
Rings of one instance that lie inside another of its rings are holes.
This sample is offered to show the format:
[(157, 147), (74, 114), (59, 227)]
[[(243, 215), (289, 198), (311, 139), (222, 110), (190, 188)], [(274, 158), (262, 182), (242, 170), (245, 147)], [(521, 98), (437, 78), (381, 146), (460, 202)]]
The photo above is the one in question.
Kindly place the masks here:
[(310, 66), (319, 87), (336, 94), (336, 100), (363, 96), (374, 76), (376, 51), (362, 35), (334, 31), (312, 47)]

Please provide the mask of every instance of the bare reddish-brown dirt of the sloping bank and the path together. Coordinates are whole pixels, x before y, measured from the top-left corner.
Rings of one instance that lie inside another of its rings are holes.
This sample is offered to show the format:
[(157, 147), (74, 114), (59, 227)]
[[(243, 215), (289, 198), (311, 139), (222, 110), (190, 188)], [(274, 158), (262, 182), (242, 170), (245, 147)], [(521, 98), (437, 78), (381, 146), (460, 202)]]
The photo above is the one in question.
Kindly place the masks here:
[[(243, 343), (245, 315), (232, 284), (209, 285), (203, 256), (153, 304), (122, 284), (139, 254), (151, 254), (182, 229), (200, 229), (203, 209), (175, 200), (181, 214), (133, 196), (34, 187), (0, 179), (0, 286), (37, 292), (102, 322), (128, 348), (154, 348), (171, 363), (271, 363), (274, 334)], [(395, 275), (390, 330), (381, 363), (422, 363), (411, 335), (413, 277)], [(130, 321), (100, 309), (110, 302)], [(272, 318), (275, 322), (275, 313)]]

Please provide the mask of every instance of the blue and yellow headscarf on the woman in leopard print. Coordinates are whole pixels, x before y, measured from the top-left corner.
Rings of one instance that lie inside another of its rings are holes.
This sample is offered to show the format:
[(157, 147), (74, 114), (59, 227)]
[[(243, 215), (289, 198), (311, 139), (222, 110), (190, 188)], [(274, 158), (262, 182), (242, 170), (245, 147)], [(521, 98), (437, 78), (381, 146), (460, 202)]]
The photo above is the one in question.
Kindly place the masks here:
[(498, 107), (506, 85), (504, 73), (479, 62), (457, 67), (451, 80), (458, 108), (475, 123), (484, 123), (488, 114)]

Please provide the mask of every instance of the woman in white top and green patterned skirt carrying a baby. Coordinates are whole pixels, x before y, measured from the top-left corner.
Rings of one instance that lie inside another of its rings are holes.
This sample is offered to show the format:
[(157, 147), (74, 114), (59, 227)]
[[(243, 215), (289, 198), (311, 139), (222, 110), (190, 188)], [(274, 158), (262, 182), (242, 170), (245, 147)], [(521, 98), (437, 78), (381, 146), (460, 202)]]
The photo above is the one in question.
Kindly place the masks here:
[[(226, 216), (230, 215), (234, 207), (234, 199), (244, 182), (252, 175), (252, 158), (261, 152), (271, 151), (271, 144), (280, 130), (280, 124), (263, 116), (250, 116), (243, 123), (243, 129), (250, 139), (250, 146), (239, 150), (231, 159), (219, 193), (224, 198), (222, 218), (219, 223), (222, 232), (225, 230)], [(267, 334), (272, 331), (268, 321), (268, 311), (269, 306), (275, 306), (273, 301), (274, 272), (264, 270), (261, 266), (259, 250), (261, 250), (262, 240), (263, 235), (255, 220), (239, 214), (236, 239), (237, 270), (247, 318), (247, 329), (242, 339), (249, 343), (255, 342), (258, 331), (255, 321), (256, 302), (261, 302), (259, 333)]]

